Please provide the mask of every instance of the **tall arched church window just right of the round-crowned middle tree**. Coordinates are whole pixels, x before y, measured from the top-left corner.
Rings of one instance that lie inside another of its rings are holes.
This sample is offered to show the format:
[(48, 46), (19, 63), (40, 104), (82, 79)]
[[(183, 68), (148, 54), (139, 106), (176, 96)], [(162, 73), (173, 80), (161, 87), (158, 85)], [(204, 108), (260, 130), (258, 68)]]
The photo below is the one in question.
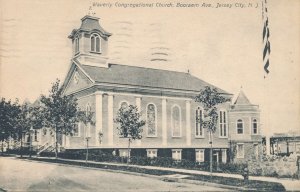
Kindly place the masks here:
[(156, 107), (154, 104), (149, 104), (147, 106), (147, 136), (155, 137), (157, 135), (156, 125)]

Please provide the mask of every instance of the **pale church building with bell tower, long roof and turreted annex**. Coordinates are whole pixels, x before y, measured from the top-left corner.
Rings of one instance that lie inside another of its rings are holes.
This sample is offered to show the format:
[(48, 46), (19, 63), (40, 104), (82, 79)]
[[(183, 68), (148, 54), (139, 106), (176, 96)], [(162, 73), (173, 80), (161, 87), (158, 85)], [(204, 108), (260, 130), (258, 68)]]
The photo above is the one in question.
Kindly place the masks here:
[[(78, 99), (82, 110), (94, 113), (95, 125), (78, 123), (72, 136), (62, 136), (65, 149), (89, 148), (117, 151), (126, 156), (128, 140), (118, 135), (114, 119), (124, 105), (135, 105), (146, 121), (142, 139), (131, 143), (131, 155), (172, 157), (198, 162), (209, 160), (209, 134), (196, 121), (203, 114), (195, 96), (205, 86), (214, 87), (224, 97), (231, 93), (189, 73), (109, 63), (108, 42), (111, 33), (99, 19), (85, 16), (81, 26), (69, 35), (73, 57), (64, 94)], [(259, 107), (250, 103), (241, 91), (234, 103), (218, 106), (217, 130), (212, 136), (214, 161), (243, 162), (261, 156)], [(47, 141), (40, 134), (40, 145)]]

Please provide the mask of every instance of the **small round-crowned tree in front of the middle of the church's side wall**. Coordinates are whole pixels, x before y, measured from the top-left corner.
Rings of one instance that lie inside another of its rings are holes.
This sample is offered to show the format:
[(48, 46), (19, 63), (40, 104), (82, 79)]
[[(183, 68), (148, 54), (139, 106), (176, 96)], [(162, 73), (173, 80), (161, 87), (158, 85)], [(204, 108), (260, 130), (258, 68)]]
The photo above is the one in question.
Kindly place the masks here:
[(142, 127), (145, 125), (145, 121), (141, 120), (141, 114), (138, 112), (138, 108), (134, 105), (121, 106), (115, 122), (118, 123), (118, 134), (121, 137), (128, 138), (128, 160), (130, 161), (130, 143), (132, 140), (142, 138)]

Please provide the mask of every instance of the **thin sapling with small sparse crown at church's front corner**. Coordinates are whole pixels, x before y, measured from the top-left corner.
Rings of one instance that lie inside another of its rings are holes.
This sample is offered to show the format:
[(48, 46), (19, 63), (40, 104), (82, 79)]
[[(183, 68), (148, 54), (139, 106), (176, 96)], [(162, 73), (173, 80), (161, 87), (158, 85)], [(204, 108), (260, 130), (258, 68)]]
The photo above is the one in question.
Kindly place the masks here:
[(86, 111), (78, 111), (78, 119), (85, 126), (85, 139), (86, 139), (86, 157), (85, 161), (88, 161), (89, 156), (89, 138), (90, 138), (90, 126), (95, 125), (95, 121), (93, 120), (94, 114), (89, 109)]

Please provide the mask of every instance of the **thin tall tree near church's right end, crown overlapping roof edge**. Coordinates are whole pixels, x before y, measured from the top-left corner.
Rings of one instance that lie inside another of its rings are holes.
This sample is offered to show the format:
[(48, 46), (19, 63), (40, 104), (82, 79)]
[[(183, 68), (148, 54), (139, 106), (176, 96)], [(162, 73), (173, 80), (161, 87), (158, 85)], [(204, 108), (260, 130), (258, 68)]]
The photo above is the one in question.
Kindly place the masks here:
[(195, 101), (202, 104), (204, 109), (204, 118), (197, 119), (209, 132), (210, 144), (210, 172), (212, 173), (212, 134), (216, 132), (218, 124), (217, 105), (231, 101), (230, 98), (222, 96), (216, 88), (205, 86), (195, 97)]

